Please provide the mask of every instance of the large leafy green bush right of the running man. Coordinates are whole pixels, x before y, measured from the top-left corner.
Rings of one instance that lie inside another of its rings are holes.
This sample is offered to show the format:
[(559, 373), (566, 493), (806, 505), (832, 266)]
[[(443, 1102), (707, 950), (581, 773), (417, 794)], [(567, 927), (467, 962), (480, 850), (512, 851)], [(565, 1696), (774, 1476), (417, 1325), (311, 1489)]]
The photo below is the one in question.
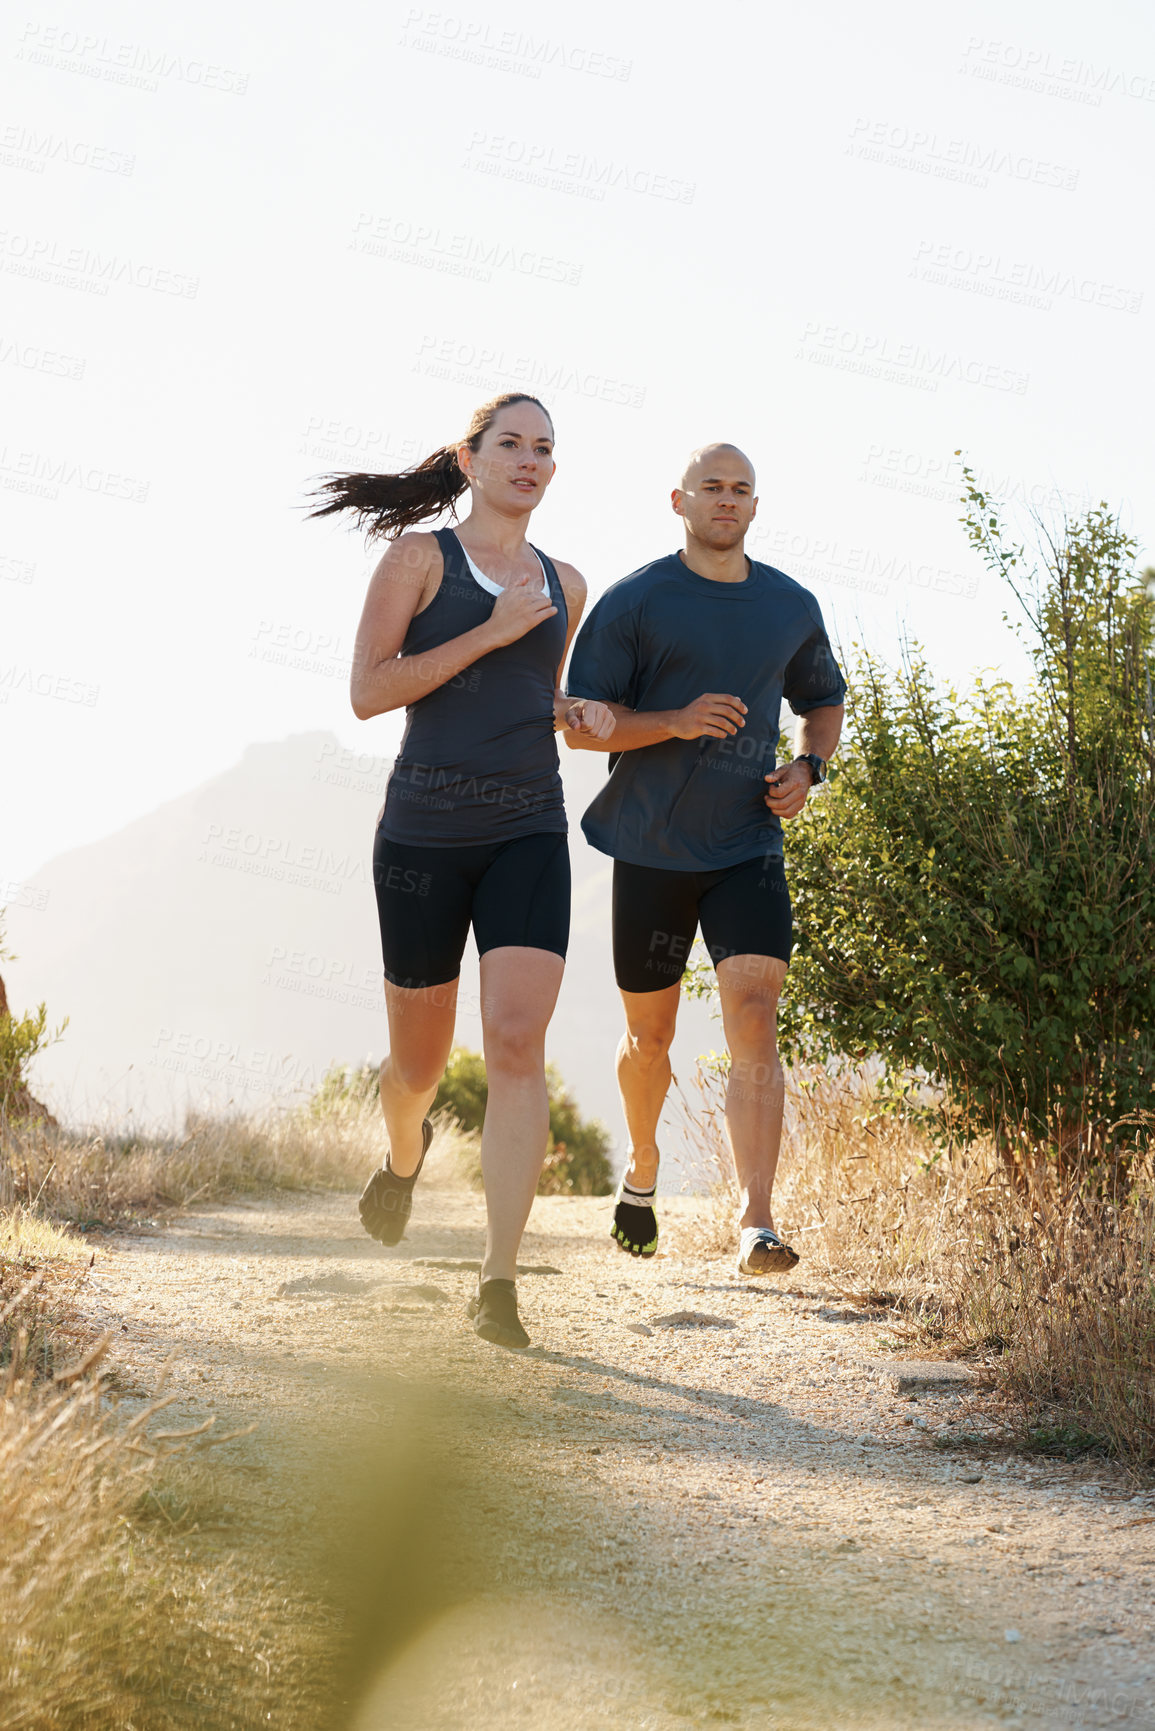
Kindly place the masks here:
[(783, 1049), (881, 1058), (895, 1092), (914, 1071), (944, 1136), (1075, 1177), (1150, 1139), (1155, 606), (1105, 505), (1029, 554), (966, 479), (1032, 677), (959, 694), (916, 647), (859, 653), (829, 788), (786, 833)]

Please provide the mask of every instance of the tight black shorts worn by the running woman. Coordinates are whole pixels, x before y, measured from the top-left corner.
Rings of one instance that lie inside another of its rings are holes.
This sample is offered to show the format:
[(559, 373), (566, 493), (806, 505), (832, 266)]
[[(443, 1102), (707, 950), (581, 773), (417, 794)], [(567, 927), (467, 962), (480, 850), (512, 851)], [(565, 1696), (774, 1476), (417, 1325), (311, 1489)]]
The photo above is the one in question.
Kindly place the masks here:
[(563, 834), (429, 848), (377, 831), (372, 883), (391, 985), (455, 980), (469, 926), (480, 956), (507, 943), (566, 954), (570, 846)]

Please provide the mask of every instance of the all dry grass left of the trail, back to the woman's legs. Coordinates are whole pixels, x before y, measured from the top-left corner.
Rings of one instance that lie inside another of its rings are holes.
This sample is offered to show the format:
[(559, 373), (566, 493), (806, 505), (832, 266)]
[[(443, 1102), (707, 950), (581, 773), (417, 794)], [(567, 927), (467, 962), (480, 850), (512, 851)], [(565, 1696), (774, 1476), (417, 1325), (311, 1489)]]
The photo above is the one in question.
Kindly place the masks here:
[[(161, 1407), (109, 1406), (85, 1324), (94, 1250), (74, 1227), (246, 1191), (360, 1187), (381, 1160), (376, 1101), (194, 1118), (180, 1137), (7, 1127), (0, 1141), (0, 1724), (12, 1731), (317, 1731), (334, 1641), (315, 1584), (286, 1594), (249, 1553), (213, 1561), (208, 1440)], [(442, 1123), (426, 1182), (454, 1186), (471, 1139)], [(55, 1219), (54, 1219), (55, 1217)]]

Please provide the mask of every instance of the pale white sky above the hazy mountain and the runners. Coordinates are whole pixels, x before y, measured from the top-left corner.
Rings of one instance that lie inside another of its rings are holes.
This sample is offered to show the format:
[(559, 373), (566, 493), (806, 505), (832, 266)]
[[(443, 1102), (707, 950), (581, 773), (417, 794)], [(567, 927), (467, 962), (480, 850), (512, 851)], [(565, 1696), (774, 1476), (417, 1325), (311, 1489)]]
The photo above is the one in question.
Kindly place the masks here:
[(300, 505), (511, 384), (592, 594), (717, 438), (750, 552), (959, 680), (1015, 663), (958, 447), (1148, 545), (1146, 5), (28, 0), (0, 69), (0, 902), (249, 741), (390, 753)]

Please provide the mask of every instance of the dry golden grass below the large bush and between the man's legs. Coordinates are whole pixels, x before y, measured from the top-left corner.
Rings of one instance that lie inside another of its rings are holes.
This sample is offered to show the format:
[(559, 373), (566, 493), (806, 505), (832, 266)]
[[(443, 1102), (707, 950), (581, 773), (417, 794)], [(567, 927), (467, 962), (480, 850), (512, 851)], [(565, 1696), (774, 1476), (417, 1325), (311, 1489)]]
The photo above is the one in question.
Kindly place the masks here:
[[(682, 1118), (707, 1181), (701, 1248), (731, 1250), (738, 1187), (726, 1077), (705, 1061)], [(1018, 1440), (1098, 1445), (1155, 1470), (1155, 1182), (1126, 1196), (1013, 1182), (989, 1144), (939, 1158), (855, 1071), (786, 1084), (774, 1213), (809, 1274), (883, 1310), (921, 1350), (984, 1357)]]

